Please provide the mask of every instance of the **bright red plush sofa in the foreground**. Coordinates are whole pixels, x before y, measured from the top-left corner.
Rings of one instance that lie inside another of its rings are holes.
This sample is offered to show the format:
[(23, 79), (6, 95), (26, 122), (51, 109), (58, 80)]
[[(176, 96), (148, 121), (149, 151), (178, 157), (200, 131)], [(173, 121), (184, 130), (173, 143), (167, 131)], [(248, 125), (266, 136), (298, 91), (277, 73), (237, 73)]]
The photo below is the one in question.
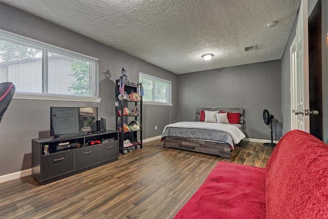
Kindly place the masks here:
[(328, 145), (293, 130), (265, 169), (219, 162), (174, 218), (328, 218)]

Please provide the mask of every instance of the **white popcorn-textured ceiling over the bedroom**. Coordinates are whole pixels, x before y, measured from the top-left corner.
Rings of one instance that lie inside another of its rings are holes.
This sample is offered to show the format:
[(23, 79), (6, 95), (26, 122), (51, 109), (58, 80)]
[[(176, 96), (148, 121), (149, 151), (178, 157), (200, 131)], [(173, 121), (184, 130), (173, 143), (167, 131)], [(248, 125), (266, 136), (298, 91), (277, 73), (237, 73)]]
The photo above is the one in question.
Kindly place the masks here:
[(0, 0), (176, 74), (280, 59), (300, 1)]

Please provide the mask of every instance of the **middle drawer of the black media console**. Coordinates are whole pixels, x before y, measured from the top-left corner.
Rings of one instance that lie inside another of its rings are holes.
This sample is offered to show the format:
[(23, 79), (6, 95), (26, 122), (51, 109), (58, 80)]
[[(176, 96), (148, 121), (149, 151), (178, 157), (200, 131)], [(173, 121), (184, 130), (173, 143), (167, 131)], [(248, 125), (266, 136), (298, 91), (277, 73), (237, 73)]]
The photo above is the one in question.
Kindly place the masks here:
[(98, 146), (89, 146), (74, 150), (75, 169), (87, 167), (98, 162)]

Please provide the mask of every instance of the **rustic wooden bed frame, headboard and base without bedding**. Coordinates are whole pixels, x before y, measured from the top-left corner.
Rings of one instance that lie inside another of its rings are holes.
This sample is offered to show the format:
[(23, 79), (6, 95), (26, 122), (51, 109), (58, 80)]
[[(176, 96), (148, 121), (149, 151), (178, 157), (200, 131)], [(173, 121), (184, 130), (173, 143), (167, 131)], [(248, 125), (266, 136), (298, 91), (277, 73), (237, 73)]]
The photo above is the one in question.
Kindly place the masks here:
[[(244, 124), (244, 109), (243, 108), (196, 108), (195, 121), (199, 121), (200, 111), (224, 111), (224, 112), (239, 112), (240, 124)], [(222, 158), (230, 159), (231, 148), (228, 143), (219, 143), (206, 140), (197, 140), (193, 138), (168, 136), (163, 140), (163, 146), (168, 148), (177, 148), (201, 153), (219, 155)]]

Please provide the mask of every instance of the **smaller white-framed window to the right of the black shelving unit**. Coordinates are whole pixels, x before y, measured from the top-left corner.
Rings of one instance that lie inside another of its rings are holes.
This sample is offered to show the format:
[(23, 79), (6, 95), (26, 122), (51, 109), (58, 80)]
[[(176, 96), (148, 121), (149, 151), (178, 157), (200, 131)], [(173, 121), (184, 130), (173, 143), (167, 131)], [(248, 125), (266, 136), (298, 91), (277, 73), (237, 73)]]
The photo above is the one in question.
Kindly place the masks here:
[(139, 82), (144, 87), (144, 103), (171, 104), (170, 81), (140, 72)]

